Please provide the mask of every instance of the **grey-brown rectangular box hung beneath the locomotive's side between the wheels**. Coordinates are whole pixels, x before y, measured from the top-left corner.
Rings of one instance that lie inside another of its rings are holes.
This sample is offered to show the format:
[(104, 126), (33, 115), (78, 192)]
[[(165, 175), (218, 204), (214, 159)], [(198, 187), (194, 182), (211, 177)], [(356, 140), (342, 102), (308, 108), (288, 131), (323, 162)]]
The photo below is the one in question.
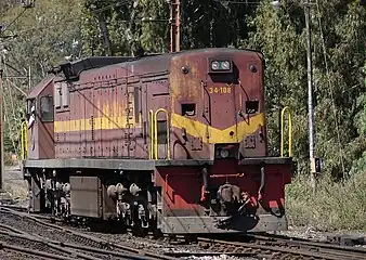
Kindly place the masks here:
[(70, 177), (71, 214), (102, 217), (102, 185), (97, 177)]

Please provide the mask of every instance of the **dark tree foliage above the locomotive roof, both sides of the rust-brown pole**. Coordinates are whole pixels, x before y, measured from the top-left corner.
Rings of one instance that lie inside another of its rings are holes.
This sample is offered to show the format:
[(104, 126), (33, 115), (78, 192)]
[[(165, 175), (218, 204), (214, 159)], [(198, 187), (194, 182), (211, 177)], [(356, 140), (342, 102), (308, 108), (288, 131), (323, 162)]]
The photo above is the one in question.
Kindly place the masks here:
[[(182, 49), (237, 46), (248, 35), (246, 17), (253, 8), (220, 1), (181, 1)], [(102, 20), (108, 24), (115, 55), (133, 54), (140, 47), (147, 52), (168, 52), (169, 14), (166, 0), (87, 0), (82, 23), (84, 50), (89, 54), (105, 52), (100, 36)]]

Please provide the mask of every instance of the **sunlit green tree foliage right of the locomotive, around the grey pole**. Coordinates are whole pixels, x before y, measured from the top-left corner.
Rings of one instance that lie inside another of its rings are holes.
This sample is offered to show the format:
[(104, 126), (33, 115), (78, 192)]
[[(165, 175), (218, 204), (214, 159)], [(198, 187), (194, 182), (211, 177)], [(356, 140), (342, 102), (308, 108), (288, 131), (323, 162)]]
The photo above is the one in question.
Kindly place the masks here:
[[(271, 109), (288, 105), (295, 114), (295, 157), (300, 166), (308, 166), (306, 34), (300, 2), (285, 1), (277, 11), (269, 1), (261, 4), (250, 20), (252, 30), (246, 46), (262, 50), (266, 58), (272, 154), (277, 153), (278, 115)], [(366, 147), (360, 135), (366, 100), (357, 102), (365, 91), (360, 68), (365, 62), (366, 10), (345, 0), (319, 1), (312, 9), (311, 22), (316, 154), (324, 159), (326, 173), (340, 177)], [(306, 173), (309, 167), (300, 170)]]

